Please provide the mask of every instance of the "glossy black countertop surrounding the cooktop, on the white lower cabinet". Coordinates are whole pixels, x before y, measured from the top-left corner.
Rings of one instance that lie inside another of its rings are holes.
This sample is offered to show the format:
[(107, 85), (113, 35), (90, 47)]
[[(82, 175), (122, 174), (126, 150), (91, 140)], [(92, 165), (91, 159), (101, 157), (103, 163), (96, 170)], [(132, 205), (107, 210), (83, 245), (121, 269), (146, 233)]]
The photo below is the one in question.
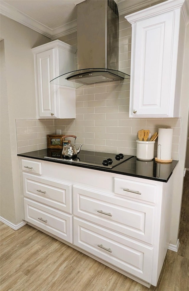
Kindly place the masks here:
[(28, 153), (20, 153), (17, 156), (33, 158), (43, 161), (49, 161), (53, 163), (59, 164), (68, 164), (76, 167), (82, 167), (87, 169), (94, 169), (97, 171), (104, 171), (109, 173), (121, 174), (126, 176), (139, 177), (143, 179), (155, 180), (160, 182), (167, 182), (172, 175), (172, 171), (177, 165), (178, 161), (173, 160), (171, 163), (159, 163), (154, 159), (152, 161), (139, 161), (136, 156), (133, 156), (128, 161), (123, 162), (122, 164), (114, 167), (113, 169), (108, 168), (98, 168), (92, 165), (84, 165), (84, 164), (74, 164), (66, 161), (60, 160), (50, 160), (44, 158), (48, 156), (49, 149), (42, 149), (38, 151), (32, 151)]

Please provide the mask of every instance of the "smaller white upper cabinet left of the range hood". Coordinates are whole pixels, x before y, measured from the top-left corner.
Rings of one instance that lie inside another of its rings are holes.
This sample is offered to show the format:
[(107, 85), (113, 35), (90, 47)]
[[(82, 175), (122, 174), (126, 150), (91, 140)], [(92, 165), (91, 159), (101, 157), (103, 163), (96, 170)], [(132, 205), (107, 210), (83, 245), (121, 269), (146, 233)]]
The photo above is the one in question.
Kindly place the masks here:
[(60, 40), (32, 48), (38, 118), (75, 118), (75, 88), (50, 84), (75, 70), (76, 49)]

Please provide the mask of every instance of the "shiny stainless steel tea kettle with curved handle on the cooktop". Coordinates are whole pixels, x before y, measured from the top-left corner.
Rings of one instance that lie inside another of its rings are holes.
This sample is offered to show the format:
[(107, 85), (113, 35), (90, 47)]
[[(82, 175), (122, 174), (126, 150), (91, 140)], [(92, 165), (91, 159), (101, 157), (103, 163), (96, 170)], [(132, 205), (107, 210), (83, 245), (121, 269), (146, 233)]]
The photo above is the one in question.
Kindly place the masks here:
[[(74, 144), (71, 144), (71, 141), (68, 140), (68, 143), (64, 143), (64, 139), (68, 138), (68, 137), (72, 137), (75, 138), (75, 142)], [(77, 156), (77, 154), (80, 152), (82, 145), (84, 145), (84, 143), (82, 143), (78, 150), (76, 150), (76, 136), (75, 135), (64, 135), (63, 137), (63, 150), (62, 150), (62, 156), (63, 158), (75, 158)]]

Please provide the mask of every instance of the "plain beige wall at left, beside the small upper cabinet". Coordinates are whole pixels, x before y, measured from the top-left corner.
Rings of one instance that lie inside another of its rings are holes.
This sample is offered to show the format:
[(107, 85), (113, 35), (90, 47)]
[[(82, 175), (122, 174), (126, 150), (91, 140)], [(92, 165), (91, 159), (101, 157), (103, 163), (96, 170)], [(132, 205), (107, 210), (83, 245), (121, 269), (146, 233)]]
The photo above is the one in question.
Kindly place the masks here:
[[(34, 59), (31, 48), (50, 39), (1, 15), (1, 217), (22, 221), (15, 118), (36, 118)], [(6, 68), (6, 70), (5, 70)]]

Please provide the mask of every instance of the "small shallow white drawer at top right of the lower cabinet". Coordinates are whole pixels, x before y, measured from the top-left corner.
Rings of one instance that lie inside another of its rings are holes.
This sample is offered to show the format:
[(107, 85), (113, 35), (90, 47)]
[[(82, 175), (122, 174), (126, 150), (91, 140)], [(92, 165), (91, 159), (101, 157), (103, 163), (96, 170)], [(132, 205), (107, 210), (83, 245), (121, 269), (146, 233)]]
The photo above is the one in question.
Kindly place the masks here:
[(114, 192), (125, 197), (132, 197), (147, 202), (156, 202), (156, 185), (114, 178)]

